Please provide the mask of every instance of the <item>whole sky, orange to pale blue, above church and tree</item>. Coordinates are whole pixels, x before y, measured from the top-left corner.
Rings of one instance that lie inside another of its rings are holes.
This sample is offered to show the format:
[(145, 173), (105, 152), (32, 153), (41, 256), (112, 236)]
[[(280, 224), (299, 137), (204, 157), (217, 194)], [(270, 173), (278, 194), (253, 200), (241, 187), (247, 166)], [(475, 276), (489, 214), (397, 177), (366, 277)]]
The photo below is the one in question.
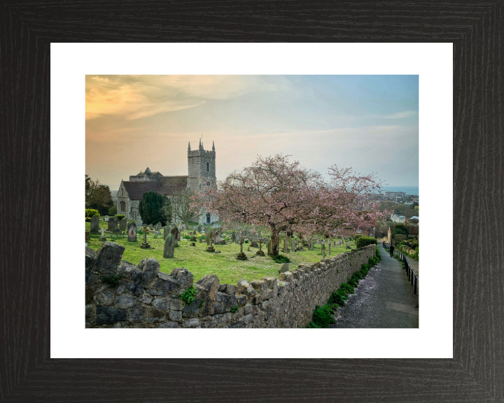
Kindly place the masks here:
[(149, 167), (187, 175), (216, 148), (216, 176), (258, 155), (307, 169), (419, 183), (418, 76), (86, 76), (86, 174), (117, 190)]

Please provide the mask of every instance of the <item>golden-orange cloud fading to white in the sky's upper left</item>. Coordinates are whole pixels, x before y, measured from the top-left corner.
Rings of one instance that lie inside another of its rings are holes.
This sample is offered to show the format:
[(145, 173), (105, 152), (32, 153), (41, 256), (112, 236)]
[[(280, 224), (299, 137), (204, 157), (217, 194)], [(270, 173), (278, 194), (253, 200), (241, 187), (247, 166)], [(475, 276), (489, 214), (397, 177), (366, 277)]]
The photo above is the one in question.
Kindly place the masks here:
[(248, 92), (281, 91), (261, 76), (86, 76), (86, 120), (123, 115), (125, 120), (200, 106), (210, 99), (232, 99)]

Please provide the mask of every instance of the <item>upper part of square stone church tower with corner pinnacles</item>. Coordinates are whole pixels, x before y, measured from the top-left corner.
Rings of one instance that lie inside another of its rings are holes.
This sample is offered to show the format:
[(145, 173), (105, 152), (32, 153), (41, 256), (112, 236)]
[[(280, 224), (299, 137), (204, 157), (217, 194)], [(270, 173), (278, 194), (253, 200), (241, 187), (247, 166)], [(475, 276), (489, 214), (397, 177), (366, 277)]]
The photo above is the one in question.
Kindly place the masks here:
[[(200, 186), (214, 186), (216, 178), (215, 145), (212, 141), (212, 150), (204, 150), (200, 140), (197, 150), (190, 149), (188, 145), (188, 188), (199, 191)], [(200, 181), (200, 178), (204, 178)]]

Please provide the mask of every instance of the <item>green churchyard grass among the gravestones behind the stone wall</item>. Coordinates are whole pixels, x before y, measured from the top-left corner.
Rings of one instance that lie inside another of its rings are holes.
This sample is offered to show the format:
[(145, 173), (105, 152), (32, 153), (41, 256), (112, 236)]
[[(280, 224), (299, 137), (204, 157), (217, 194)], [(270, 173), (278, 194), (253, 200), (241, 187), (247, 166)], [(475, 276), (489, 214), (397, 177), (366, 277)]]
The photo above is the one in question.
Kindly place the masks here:
[[(100, 227), (106, 228), (106, 222), (100, 221)], [(90, 222), (85, 223), (86, 231), (90, 230)], [(154, 239), (153, 235), (147, 235), (148, 243), (154, 249), (142, 249), (140, 245), (144, 239), (143, 235), (138, 235), (137, 242), (127, 241), (126, 235), (105, 234), (107, 241), (119, 243), (125, 247), (123, 260), (133, 264), (139, 264), (142, 259), (147, 257), (155, 257), (160, 262), (161, 271), (171, 273), (175, 267), (186, 267), (193, 272), (195, 281), (202, 278), (205, 274), (215, 274), (222, 283), (236, 284), (240, 278), (245, 278), (248, 281), (258, 280), (262, 276), (279, 277), (278, 269), (281, 264), (275, 263), (267, 255), (257, 256), (255, 252), (258, 248), (250, 248), (247, 251), (248, 244), (244, 243), (244, 253), (248, 260), (237, 260), (239, 253), (239, 245), (236, 243), (228, 243), (227, 245), (216, 245), (215, 249), (221, 253), (209, 253), (205, 249), (207, 243), (196, 242), (196, 246), (190, 246), (190, 241), (181, 239), (179, 247), (175, 248), (175, 255), (172, 258), (163, 257), (164, 240), (162, 235), (158, 235), (158, 239)], [(87, 246), (94, 250), (98, 250), (102, 246), (102, 241), (99, 241), (99, 235), (91, 235), (90, 242)], [(352, 246), (355, 248), (355, 246)], [(265, 250), (264, 246), (262, 250)], [(327, 252), (326, 246), (326, 252)], [(344, 245), (336, 246), (331, 250), (331, 256), (339, 253), (344, 253)], [(283, 253), (282, 253), (283, 254)], [(314, 245), (314, 250), (306, 250), (304, 252), (295, 252), (287, 254), (291, 263), (290, 268), (297, 267), (297, 264), (314, 263), (322, 259), (320, 245)], [(326, 255), (327, 257), (327, 255)]]

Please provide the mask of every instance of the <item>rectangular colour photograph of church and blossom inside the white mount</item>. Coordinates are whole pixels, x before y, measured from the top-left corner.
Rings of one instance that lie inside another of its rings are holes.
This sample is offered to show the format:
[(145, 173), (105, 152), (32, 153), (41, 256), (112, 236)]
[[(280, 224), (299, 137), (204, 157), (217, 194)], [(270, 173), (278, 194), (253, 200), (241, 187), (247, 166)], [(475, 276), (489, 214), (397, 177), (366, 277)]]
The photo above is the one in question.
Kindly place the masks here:
[(86, 328), (419, 328), (418, 75), (86, 75), (83, 174)]

